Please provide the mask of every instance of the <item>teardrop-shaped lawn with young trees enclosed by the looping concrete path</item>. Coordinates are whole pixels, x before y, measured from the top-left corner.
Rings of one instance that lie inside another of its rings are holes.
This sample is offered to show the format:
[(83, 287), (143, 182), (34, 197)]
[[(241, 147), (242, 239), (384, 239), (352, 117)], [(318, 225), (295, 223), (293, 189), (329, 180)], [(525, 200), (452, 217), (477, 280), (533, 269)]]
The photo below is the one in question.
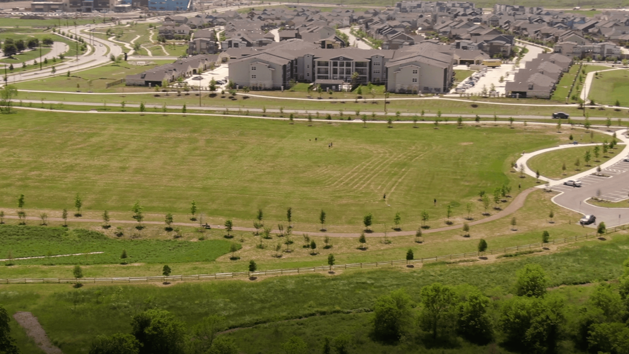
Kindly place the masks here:
[[(578, 140), (578, 136), (576, 135), (576, 139)], [(589, 136), (581, 135), (582, 138), (586, 139), (589, 143)], [(600, 140), (605, 138), (604, 136), (599, 137), (595, 140)], [(542, 155), (537, 155), (531, 158), (528, 161), (528, 167), (533, 171), (539, 171), (540, 175), (544, 177), (548, 177), (551, 179), (564, 179), (565, 177), (577, 173), (579, 170), (589, 170), (593, 166), (599, 165), (606, 160), (608, 160), (612, 153), (608, 153), (605, 157), (603, 156), (602, 149), (599, 152), (599, 158), (594, 158), (594, 147), (574, 147), (574, 148), (566, 148), (562, 150), (555, 150), (552, 152), (543, 153)], [(591, 160), (589, 164), (591, 166), (586, 166), (586, 162), (584, 160), (586, 151), (590, 152)], [(610, 150), (611, 152), (618, 152), (618, 149)], [(575, 165), (577, 158), (579, 159), (579, 166)], [(594, 160), (600, 160), (600, 162), (595, 162)], [(562, 165), (565, 163), (565, 172), (562, 170)], [(564, 174), (565, 173), (565, 174)]]

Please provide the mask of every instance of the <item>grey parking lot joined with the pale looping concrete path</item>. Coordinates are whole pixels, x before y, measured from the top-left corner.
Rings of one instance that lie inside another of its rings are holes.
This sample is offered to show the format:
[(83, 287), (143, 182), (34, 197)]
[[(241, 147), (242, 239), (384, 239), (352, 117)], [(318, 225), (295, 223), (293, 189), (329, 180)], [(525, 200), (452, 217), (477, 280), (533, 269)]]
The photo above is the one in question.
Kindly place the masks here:
[[(599, 131), (599, 133), (611, 135), (608, 131)], [(595, 196), (600, 196), (603, 199), (613, 202), (623, 201), (629, 198), (629, 173), (627, 173), (627, 171), (629, 171), (629, 163), (623, 161), (629, 153), (629, 138), (627, 138), (626, 133), (626, 130), (616, 131), (616, 137), (618, 140), (625, 143), (625, 147), (623, 150), (615, 152), (615, 156), (610, 158), (610, 160), (601, 164), (601, 172), (609, 177), (593, 175), (596, 172), (596, 167), (560, 180), (540, 177), (540, 179), (548, 182), (550, 189), (560, 192), (559, 195), (553, 197), (552, 201), (559, 206), (576, 211), (577, 213), (594, 214), (597, 222), (604, 221), (607, 226), (629, 223), (629, 209), (627, 208), (598, 207), (587, 204), (586, 202), (587, 199)], [(535, 153), (525, 153), (516, 163), (518, 166), (524, 163), (525, 173), (535, 176), (535, 172), (526, 166), (526, 162), (529, 158), (550, 150), (579, 146), (583, 145), (563, 145), (561, 147), (540, 150)], [(582, 187), (564, 185), (564, 182), (570, 179), (581, 180)], [(540, 187), (543, 188), (543, 186)], [(629, 203), (627, 206), (629, 207)], [(590, 227), (594, 226), (595, 225), (590, 225)]]

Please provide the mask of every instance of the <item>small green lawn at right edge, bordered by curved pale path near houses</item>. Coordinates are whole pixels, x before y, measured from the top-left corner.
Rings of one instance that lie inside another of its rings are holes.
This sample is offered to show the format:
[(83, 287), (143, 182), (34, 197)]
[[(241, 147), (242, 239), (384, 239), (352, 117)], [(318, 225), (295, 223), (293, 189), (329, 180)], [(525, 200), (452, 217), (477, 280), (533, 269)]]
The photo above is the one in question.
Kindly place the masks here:
[(629, 70), (600, 72), (593, 79), (589, 98), (599, 104), (629, 106)]

